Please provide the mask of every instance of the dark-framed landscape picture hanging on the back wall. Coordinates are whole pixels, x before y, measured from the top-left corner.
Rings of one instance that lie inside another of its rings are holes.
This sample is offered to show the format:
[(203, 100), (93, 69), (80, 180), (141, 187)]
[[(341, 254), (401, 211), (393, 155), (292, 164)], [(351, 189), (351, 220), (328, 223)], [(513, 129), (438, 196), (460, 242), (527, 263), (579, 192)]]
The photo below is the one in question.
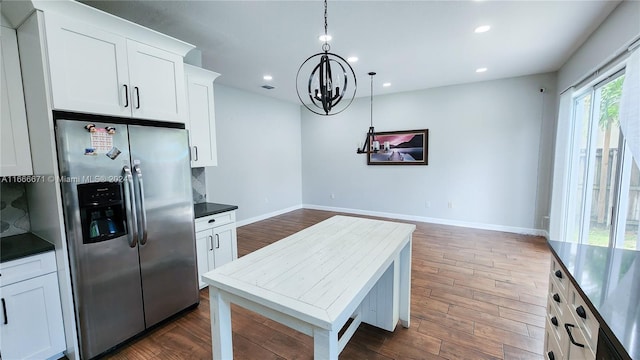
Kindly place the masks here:
[(429, 129), (374, 133), (367, 165), (428, 165)]

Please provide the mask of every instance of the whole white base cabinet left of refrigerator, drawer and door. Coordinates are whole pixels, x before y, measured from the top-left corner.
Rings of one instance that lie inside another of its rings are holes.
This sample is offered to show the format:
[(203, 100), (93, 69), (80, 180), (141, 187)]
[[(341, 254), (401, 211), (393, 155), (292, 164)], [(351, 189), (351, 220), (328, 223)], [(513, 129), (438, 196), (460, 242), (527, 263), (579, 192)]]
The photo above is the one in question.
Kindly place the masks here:
[(60, 358), (66, 349), (53, 251), (0, 264), (3, 359)]

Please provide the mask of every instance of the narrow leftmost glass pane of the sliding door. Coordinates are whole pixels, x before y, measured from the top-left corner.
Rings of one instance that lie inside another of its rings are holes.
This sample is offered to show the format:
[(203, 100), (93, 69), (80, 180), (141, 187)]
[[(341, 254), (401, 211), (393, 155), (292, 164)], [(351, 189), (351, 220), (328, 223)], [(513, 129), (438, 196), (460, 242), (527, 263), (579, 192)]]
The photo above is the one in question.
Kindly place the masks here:
[(571, 157), (571, 174), (566, 240), (579, 242), (582, 227), (584, 186), (587, 176), (587, 146), (591, 127), (591, 97), (589, 92), (576, 99), (574, 104), (575, 132), (573, 137), (573, 156)]

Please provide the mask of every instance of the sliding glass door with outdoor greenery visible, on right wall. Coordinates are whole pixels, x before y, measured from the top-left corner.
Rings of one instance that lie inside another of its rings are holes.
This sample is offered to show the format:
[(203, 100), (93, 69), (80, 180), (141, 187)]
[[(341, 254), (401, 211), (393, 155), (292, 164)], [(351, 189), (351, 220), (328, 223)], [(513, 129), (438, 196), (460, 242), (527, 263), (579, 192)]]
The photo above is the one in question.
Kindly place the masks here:
[(575, 97), (566, 241), (639, 248), (640, 176), (618, 116), (623, 82), (614, 74)]

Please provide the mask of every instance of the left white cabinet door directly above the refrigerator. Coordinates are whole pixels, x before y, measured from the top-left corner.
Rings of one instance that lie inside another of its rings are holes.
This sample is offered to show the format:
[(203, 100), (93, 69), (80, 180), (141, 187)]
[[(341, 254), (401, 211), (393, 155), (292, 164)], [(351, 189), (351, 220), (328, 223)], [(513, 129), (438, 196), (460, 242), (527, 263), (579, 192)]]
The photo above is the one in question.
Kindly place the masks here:
[(126, 39), (54, 13), (45, 22), (54, 109), (130, 117)]

